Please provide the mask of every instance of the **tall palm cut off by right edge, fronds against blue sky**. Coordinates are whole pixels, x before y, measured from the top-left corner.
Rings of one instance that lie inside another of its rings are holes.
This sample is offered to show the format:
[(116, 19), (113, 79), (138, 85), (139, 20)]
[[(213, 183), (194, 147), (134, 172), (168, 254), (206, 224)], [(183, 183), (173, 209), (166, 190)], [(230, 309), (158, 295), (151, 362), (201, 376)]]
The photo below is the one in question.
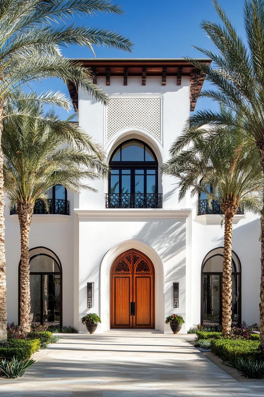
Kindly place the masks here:
[[(208, 89), (200, 96), (212, 98), (226, 105), (231, 113), (221, 114), (218, 111), (198, 111), (186, 125), (185, 133), (179, 141), (178, 148), (190, 143), (194, 135), (206, 133), (201, 126), (207, 124), (211, 131), (218, 125), (234, 127), (240, 132), (234, 113), (239, 108), (243, 114), (243, 131), (249, 134), (255, 144), (264, 179), (264, 1), (244, 1), (245, 42), (238, 35), (230, 19), (220, 7), (217, 0), (213, 5), (222, 21), (222, 24), (202, 21), (201, 27), (207, 37), (211, 39), (217, 53), (197, 48), (213, 63), (205, 66), (192, 58), (186, 58), (194, 66), (207, 73), (207, 80), (213, 83), (216, 89)], [(219, 136), (224, 131), (216, 131)], [(214, 132), (212, 132), (214, 135)], [(264, 189), (262, 186), (263, 206), (261, 210), (261, 278), (260, 278), (260, 344), (264, 349)]]

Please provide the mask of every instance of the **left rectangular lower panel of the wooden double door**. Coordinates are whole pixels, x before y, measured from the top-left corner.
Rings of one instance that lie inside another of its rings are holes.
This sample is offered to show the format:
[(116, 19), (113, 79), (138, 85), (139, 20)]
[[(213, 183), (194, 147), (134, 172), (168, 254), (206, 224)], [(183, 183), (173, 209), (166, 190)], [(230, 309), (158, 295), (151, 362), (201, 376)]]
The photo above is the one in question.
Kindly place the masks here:
[(121, 328), (131, 326), (130, 276), (114, 278), (114, 324)]

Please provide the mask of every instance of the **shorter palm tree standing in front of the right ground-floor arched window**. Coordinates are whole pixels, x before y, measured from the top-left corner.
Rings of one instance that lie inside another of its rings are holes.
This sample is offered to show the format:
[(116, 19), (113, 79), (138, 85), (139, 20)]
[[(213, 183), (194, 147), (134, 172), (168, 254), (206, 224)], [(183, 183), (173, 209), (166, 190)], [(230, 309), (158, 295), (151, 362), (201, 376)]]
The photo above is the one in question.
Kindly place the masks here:
[[(225, 110), (222, 108), (221, 112)], [(221, 139), (212, 139), (208, 132), (205, 137), (194, 137), (190, 147), (180, 152), (176, 141), (171, 148), (172, 158), (163, 166), (163, 171), (179, 178), (179, 200), (190, 188), (193, 196), (199, 192), (207, 194), (208, 185), (213, 186), (207, 200), (209, 205), (212, 200), (218, 200), (224, 214), (222, 332), (228, 335), (232, 322), (233, 218), (242, 206), (245, 210), (259, 212), (258, 191), (263, 181), (258, 152), (255, 147), (247, 150), (245, 135), (225, 128)]]

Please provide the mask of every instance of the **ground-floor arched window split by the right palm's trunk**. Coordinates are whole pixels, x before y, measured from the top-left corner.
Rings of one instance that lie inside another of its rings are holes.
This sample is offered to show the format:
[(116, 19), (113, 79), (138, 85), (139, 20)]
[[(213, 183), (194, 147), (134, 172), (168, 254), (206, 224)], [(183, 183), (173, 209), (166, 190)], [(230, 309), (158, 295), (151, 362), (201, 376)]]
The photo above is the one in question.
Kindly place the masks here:
[[(223, 247), (209, 251), (201, 270), (201, 323), (222, 324)], [(241, 324), (241, 263), (232, 251), (232, 323)]]

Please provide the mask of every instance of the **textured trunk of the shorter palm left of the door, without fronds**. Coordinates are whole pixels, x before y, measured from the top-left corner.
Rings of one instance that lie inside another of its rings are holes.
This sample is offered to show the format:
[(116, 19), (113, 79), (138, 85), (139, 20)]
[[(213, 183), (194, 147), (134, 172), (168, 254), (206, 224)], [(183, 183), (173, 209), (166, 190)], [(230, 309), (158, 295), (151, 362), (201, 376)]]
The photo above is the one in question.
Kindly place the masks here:
[(29, 286), (29, 229), (34, 205), (18, 204), (17, 214), (20, 225), (21, 264), (20, 264), (20, 326), (23, 332), (29, 332), (30, 286)]

